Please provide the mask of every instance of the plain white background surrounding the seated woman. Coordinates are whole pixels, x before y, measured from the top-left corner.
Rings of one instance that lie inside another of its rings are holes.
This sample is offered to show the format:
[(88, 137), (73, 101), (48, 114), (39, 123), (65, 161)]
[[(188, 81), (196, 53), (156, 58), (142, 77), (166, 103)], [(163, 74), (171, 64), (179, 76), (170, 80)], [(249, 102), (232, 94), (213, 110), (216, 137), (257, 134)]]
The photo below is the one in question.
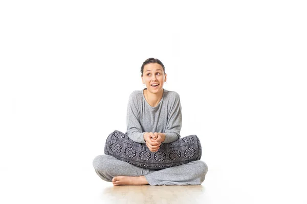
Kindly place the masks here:
[(181, 96), (181, 135), (202, 141), (207, 203), (307, 203), (306, 10), (1, 1), (1, 202), (102, 203), (92, 160), (109, 133), (125, 132), (128, 96), (153, 57)]

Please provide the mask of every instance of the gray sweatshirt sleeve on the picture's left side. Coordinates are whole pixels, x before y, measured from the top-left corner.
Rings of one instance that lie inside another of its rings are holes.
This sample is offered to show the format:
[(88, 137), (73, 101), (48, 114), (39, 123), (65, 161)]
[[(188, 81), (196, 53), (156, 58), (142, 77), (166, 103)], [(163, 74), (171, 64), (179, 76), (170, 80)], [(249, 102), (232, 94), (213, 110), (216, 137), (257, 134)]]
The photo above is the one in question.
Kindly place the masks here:
[(138, 110), (138, 101), (135, 98), (135, 92), (129, 96), (127, 108), (127, 132), (128, 137), (138, 143), (146, 143), (144, 140), (144, 132), (140, 124), (140, 110)]

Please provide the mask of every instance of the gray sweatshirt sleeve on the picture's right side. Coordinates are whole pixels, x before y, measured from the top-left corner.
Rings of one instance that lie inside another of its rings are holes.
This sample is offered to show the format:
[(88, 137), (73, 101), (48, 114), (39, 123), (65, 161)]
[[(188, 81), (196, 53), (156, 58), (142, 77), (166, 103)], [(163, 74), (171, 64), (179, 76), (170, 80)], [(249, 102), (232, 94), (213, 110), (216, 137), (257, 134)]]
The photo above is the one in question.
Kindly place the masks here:
[(165, 140), (163, 143), (170, 143), (180, 138), (180, 130), (182, 124), (181, 103), (180, 97), (176, 93), (174, 101), (168, 110), (168, 120), (165, 130)]

